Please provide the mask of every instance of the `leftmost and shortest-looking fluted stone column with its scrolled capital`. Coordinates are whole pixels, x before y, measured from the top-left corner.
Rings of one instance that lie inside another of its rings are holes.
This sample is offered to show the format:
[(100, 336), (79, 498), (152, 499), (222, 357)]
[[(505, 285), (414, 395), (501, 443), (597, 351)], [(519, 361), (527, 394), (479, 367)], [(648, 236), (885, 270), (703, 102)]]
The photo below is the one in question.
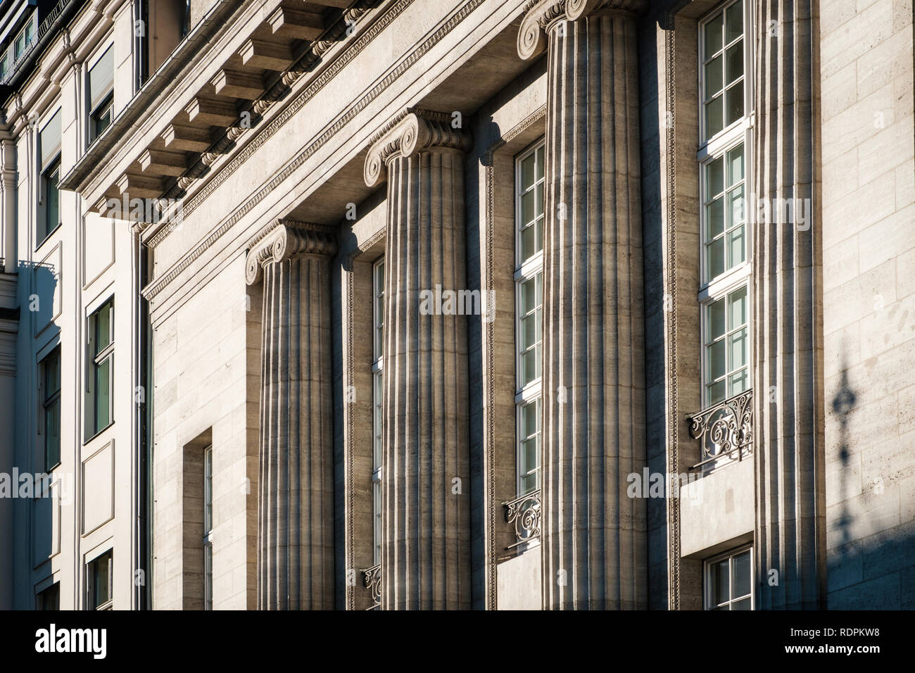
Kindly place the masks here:
[(261, 610), (334, 602), (330, 256), (333, 233), (277, 223), (245, 262), (264, 280), (257, 602)]

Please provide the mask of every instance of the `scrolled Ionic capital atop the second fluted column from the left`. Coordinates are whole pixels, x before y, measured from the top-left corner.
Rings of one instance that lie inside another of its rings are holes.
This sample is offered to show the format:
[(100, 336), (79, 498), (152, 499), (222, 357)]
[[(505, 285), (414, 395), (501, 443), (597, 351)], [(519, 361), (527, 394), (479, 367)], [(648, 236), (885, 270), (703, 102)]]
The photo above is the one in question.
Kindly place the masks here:
[(470, 134), (452, 125), (447, 113), (407, 108), (372, 138), (365, 157), (365, 184), (374, 187), (387, 179), (388, 162), (394, 157), (412, 157), (433, 147), (466, 152)]

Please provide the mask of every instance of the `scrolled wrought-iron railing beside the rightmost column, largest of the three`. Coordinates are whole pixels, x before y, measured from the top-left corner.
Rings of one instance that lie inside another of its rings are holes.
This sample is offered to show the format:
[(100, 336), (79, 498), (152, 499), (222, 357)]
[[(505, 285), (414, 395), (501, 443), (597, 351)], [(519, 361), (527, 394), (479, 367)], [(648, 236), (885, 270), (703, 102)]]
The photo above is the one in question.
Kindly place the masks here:
[(724, 458), (737, 451), (737, 460), (753, 449), (753, 390), (719, 402), (714, 407), (686, 417), (689, 434), (702, 441), (702, 460), (693, 469)]

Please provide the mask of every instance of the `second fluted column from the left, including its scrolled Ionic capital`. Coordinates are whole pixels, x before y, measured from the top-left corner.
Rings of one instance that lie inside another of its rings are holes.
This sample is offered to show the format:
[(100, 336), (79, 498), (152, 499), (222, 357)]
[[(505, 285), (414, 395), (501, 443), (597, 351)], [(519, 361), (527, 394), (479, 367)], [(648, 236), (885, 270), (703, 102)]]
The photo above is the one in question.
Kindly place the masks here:
[(421, 292), (466, 288), (464, 157), (447, 114), (408, 110), (372, 144), (388, 181), (382, 608), (470, 607), (467, 323)]

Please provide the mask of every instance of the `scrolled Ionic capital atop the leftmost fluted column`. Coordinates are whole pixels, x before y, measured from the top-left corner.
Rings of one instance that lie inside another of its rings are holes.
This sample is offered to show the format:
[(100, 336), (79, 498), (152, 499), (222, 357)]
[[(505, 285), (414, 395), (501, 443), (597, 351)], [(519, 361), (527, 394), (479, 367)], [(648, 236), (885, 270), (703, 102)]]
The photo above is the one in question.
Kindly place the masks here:
[(278, 220), (248, 251), (244, 262), (244, 277), (253, 285), (262, 277), (264, 266), (283, 262), (296, 255), (337, 254), (337, 238), (332, 227), (320, 224), (294, 223)]

